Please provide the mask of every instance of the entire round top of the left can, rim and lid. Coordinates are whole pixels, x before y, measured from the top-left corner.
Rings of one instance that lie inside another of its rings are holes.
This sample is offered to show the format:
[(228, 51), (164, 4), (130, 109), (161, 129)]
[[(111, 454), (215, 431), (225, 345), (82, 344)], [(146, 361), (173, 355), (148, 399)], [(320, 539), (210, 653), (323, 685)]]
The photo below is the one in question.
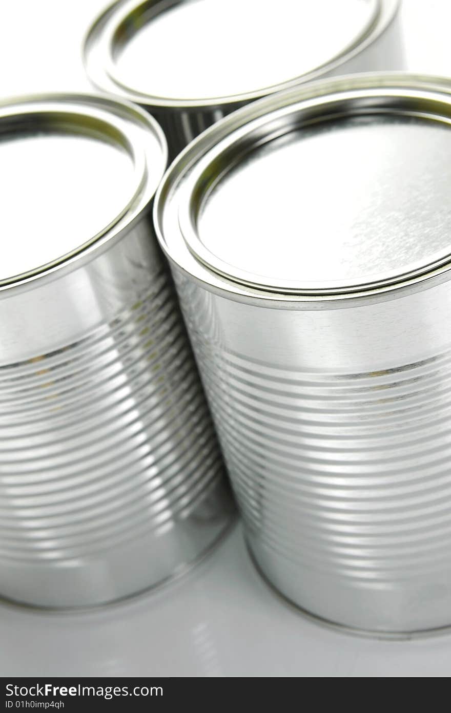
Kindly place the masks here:
[(153, 197), (166, 140), (146, 112), (94, 96), (0, 105), (0, 287), (106, 245)]

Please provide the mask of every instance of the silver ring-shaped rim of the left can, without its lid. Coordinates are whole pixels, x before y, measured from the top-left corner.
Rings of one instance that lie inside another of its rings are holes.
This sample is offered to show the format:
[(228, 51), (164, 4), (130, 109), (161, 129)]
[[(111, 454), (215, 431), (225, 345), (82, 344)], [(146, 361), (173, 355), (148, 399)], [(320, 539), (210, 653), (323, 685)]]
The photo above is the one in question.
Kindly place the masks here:
[[(124, 101), (111, 100), (96, 94), (49, 93), (9, 98), (0, 102), (0, 129), (5, 125), (33, 126), (36, 120), (51, 122), (70, 133), (101, 135), (126, 150), (133, 163), (133, 180), (125, 202), (118, 207), (107, 225), (81, 242), (74, 250), (38, 265), (27, 272), (0, 280), (0, 296), (11, 289), (27, 289), (36, 279), (54, 279), (72, 271), (94, 253), (109, 249), (131, 229), (135, 220), (146, 210), (156, 193), (168, 161), (168, 146), (160, 126), (146, 111)], [(153, 147), (161, 151), (161, 167), (149, 170), (148, 157)]]

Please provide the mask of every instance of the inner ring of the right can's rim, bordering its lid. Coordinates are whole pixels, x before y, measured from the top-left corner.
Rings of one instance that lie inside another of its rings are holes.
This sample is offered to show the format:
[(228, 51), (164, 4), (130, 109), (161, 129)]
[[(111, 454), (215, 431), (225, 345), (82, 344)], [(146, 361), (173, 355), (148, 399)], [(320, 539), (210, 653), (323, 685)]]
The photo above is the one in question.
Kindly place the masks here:
[[(437, 107), (434, 106), (435, 102)], [(410, 108), (410, 104), (412, 108)], [(427, 113), (420, 110), (421, 105), (427, 108)], [(437, 113), (434, 112), (435, 108)], [(306, 127), (318, 120), (327, 123), (330, 118), (333, 119), (336, 116), (340, 116), (340, 118), (343, 116), (365, 116), (366, 113), (385, 113), (385, 111), (390, 115), (415, 116), (425, 118), (425, 120), (431, 119), (434, 123), (440, 120), (451, 125), (451, 97), (445, 102), (442, 98), (437, 99), (436, 93), (425, 90), (406, 92), (392, 88), (385, 90), (355, 89), (293, 103), (246, 123), (240, 129), (223, 138), (193, 166), (183, 183), (178, 222), (183, 239), (196, 260), (202, 262), (213, 272), (239, 284), (265, 289), (268, 292), (295, 292), (296, 294), (360, 292), (372, 287), (383, 287), (402, 282), (411, 277), (420, 277), (420, 275), (450, 262), (451, 245), (448, 245), (446, 252), (440, 250), (432, 253), (427, 262), (418, 260), (408, 269), (375, 274), (372, 279), (368, 280), (346, 279), (330, 283), (323, 281), (298, 282), (294, 279), (263, 277), (255, 272), (230, 265), (201, 240), (198, 232), (198, 215), (212, 186), (217, 185), (232, 165), (239, 165), (244, 155), (247, 155), (256, 145), (260, 145), (265, 137), (270, 137), (269, 140), (273, 140), (283, 134), (285, 130), (289, 133), (293, 128)], [(446, 111), (447, 113), (445, 113)]]

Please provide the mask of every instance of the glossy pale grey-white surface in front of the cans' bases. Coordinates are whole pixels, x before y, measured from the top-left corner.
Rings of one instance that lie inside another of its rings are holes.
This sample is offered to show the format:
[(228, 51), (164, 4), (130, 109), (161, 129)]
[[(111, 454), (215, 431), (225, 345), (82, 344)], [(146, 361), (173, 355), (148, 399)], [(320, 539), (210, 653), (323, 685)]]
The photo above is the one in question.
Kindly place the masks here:
[(301, 617), (260, 580), (239, 527), (183, 580), (103, 612), (61, 616), (2, 607), (0, 637), (5, 676), (450, 673), (451, 637), (377, 641)]

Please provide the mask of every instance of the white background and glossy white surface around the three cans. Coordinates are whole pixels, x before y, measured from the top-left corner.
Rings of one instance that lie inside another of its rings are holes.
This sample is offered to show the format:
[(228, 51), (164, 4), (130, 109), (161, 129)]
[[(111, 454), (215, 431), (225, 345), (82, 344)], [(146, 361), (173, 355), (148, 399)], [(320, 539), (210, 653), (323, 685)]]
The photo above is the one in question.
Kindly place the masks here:
[[(80, 46), (103, 4), (0, 0), (0, 97), (90, 91)], [(449, 0), (404, 0), (402, 26), (407, 67), (451, 76)], [(450, 674), (451, 634), (377, 641), (305, 620), (255, 573), (239, 526), (186, 578), (131, 602), (83, 615), (0, 605), (0, 676)]]

